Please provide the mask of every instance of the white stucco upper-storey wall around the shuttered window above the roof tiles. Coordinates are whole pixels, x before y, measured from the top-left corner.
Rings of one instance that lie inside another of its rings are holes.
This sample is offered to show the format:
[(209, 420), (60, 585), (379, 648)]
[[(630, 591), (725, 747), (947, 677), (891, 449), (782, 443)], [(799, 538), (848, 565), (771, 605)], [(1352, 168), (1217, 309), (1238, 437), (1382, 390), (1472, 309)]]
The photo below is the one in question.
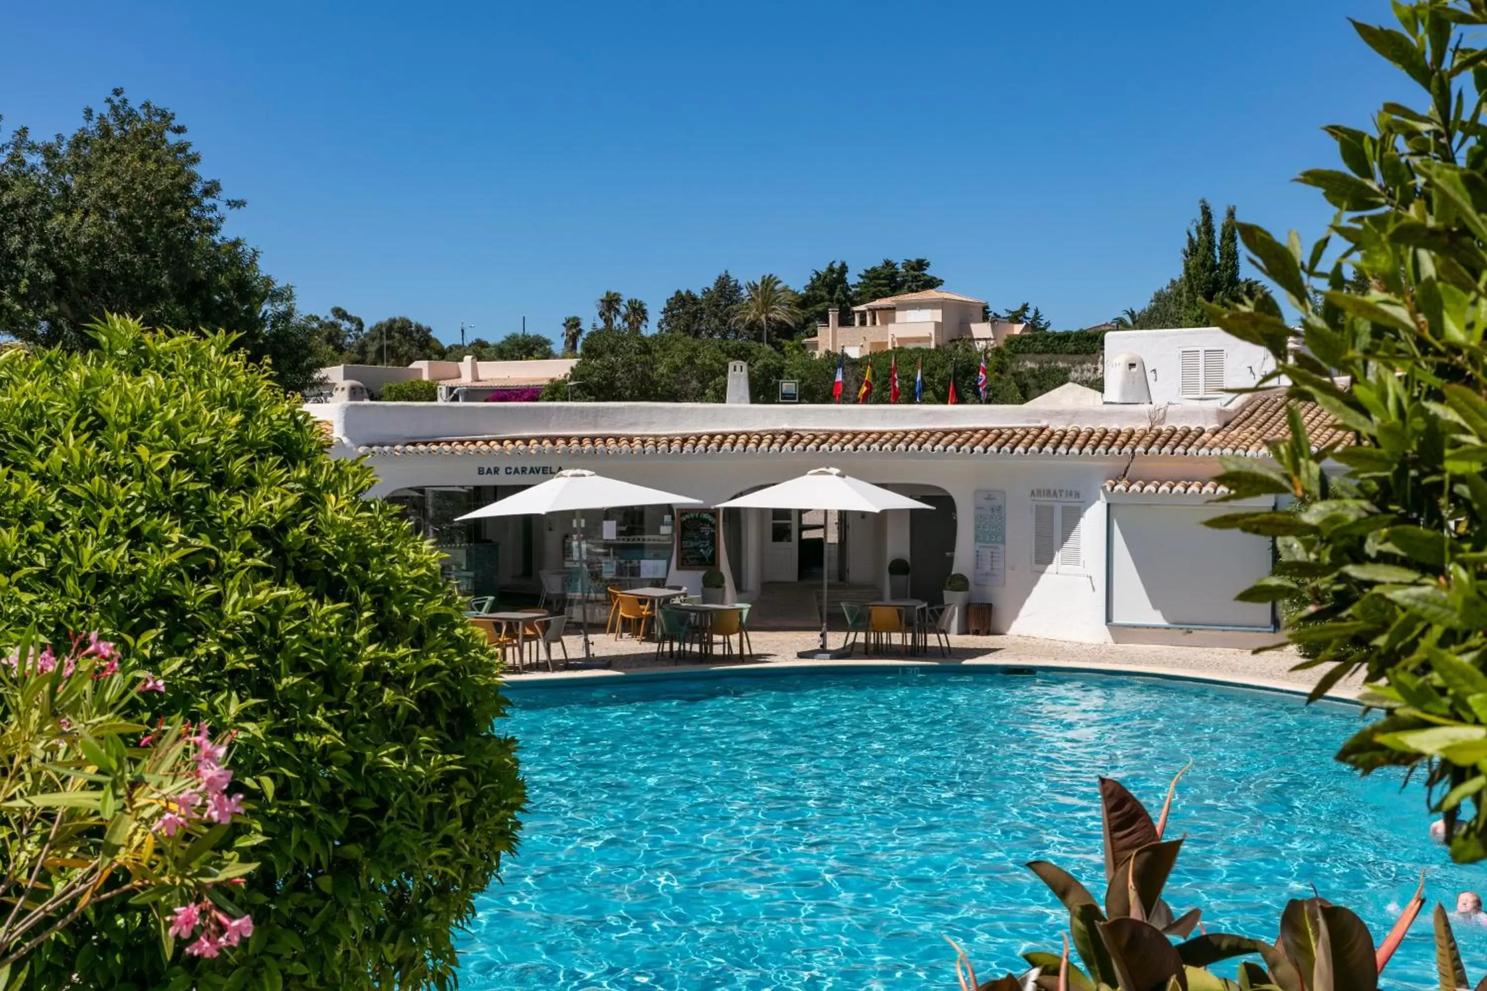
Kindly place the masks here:
[[(1224, 386), (1246, 389), (1257, 385), (1276, 361), (1268, 351), (1237, 337), (1230, 337), (1218, 327), (1190, 327), (1182, 330), (1115, 330), (1105, 334), (1105, 401), (1112, 401), (1111, 383), (1118, 377), (1112, 367), (1123, 354), (1141, 355), (1146, 364), (1146, 386), (1151, 389), (1151, 404), (1184, 403), (1190, 406), (1234, 406), (1233, 395), (1194, 398), (1182, 395), (1182, 352), (1188, 349), (1224, 351)], [(1141, 409), (1141, 407), (1130, 407)]]

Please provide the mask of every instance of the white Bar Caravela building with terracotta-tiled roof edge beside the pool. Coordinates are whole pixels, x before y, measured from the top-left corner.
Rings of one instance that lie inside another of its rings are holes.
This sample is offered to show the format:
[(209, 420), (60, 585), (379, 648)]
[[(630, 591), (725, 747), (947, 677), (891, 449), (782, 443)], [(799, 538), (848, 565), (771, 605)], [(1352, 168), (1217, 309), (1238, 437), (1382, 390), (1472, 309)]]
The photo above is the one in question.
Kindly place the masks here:
[[(1265, 458), (1286, 431), (1280, 392), (1182, 395), (1187, 354), (1222, 367), (1225, 388), (1254, 385), (1259, 348), (1218, 331), (1111, 334), (1142, 365), (1160, 401), (1074, 395), (1068, 406), (748, 406), (648, 403), (416, 404), (309, 407), (333, 450), (376, 472), (369, 495), (400, 502), (451, 556), (471, 593), (535, 587), (571, 559), (570, 520), (451, 520), (564, 468), (684, 493), (715, 505), (809, 468), (833, 465), (932, 504), (934, 511), (845, 514), (827, 533), (810, 514), (724, 511), (717, 565), (729, 594), (754, 600), (821, 568), (833, 581), (888, 588), (888, 562), (912, 568), (912, 594), (940, 599), (947, 574), (993, 603), (993, 628), (1084, 642), (1255, 645), (1274, 637), (1268, 605), (1234, 594), (1270, 571), (1271, 545), (1200, 523), (1213, 505), (1219, 455)], [(1155, 342), (1146, 346), (1146, 342)], [(1212, 351), (1222, 355), (1212, 355)], [(1112, 358), (1114, 360), (1114, 358)], [(1254, 377), (1251, 374), (1254, 373)], [(1178, 398), (1167, 382), (1178, 380)], [(1117, 392), (1120, 389), (1117, 388)], [(1152, 397), (1146, 397), (1148, 400)], [(1316, 443), (1341, 438), (1306, 410)], [(1271, 505), (1271, 499), (1248, 505)], [(602, 517), (608, 516), (608, 522)], [(590, 514), (586, 533), (604, 578), (700, 585), (678, 559), (671, 508)], [(788, 587), (785, 588), (788, 593)], [(760, 615), (758, 621), (767, 623)]]

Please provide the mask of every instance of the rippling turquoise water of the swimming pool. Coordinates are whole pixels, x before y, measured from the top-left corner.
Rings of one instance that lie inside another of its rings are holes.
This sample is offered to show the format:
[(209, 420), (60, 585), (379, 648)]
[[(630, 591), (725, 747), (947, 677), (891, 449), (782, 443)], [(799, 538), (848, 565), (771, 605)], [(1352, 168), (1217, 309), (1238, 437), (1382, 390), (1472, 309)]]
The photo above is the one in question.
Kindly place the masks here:
[[(1419, 786), (1332, 762), (1359, 725), (1340, 704), (912, 672), (510, 695), (529, 807), (461, 940), (467, 990), (953, 988), (941, 936), (986, 979), (1066, 930), (1025, 862), (1103, 890), (1096, 776), (1155, 813), (1190, 759), (1167, 900), (1209, 932), (1273, 939), (1315, 884), (1381, 939), (1422, 869), (1432, 903), (1487, 888), (1429, 842)], [(1487, 929), (1459, 938), (1480, 979)], [(1426, 914), (1389, 987), (1436, 987), (1430, 961)]]

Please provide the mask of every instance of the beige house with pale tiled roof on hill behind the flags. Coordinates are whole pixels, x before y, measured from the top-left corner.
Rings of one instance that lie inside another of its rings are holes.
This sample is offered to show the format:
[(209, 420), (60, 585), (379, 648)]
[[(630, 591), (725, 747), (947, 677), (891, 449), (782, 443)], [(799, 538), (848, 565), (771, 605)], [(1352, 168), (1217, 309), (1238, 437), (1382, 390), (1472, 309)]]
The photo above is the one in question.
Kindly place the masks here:
[(859, 358), (889, 348), (943, 348), (967, 337), (990, 346), (1022, 333), (1023, 324), (986, 321), (984, 312), (986, 300), (944, 290), (885, 296), (854, 306), (846, 324), (836, 309), (828, 311), (816, 336), (801, 343), (816, 354), (842, 351)]

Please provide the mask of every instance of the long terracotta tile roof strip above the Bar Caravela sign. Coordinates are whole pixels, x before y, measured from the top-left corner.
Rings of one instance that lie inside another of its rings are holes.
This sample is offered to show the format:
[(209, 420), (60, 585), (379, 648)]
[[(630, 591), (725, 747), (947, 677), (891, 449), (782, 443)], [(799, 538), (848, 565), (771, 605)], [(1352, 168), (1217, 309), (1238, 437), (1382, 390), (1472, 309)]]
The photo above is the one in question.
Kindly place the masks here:
[[(1347, 444), (1352, 435), (1317, 406), (1298, 404), (1313, 447)], [(1091, 410), (1097, 412), (1097, 410)], [(947, 426), (935, 429), (758, 429), (712, 434), (607, 434), (598, 437), (506, 437), (375, 444), (360, 453), (409, 455), (688, 455), (755, 452), (943, 452), (961, 455), (1099, 456), (1178, 455), (1264, 458), (1267, 443), (1286, 435), (1286, 398), (1252, 397), (1222, 426)]]

